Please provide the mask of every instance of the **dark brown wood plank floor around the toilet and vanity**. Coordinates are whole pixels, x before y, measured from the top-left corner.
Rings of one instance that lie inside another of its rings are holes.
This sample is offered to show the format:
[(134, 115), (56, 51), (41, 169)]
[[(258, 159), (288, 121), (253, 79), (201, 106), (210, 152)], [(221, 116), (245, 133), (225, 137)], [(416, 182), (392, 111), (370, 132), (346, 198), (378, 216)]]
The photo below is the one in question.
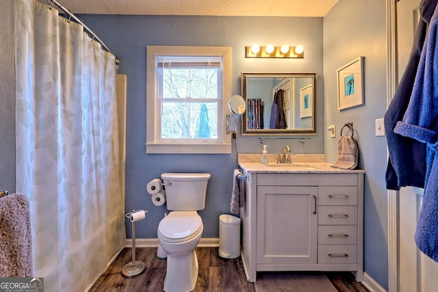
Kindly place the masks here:
[[(122, 268), (132, 261), (131, 248), (124, 248), (105, 273), (94, 283), (90, 291), (163, 291), (166, 259), (157, 258), (156, 253), (157, 248), (137, 248), (136, 260), (142, 261), (146, 265), (146, 270), (135, 278), (124, 278), (121, 273)], [(254, 284), (246, 280), (240, 257), (221, 258), (218, 256), (218, 248), (196, 248), (196, 255), (199, 272), (194, 291), (255, 292)], [(368, 289), (356, 282), (349, 272), (326, 272), (324, 274), (338, 291), (368, 292)], [(287, 291), (287, 289), (276, 289), (276, 291)]]

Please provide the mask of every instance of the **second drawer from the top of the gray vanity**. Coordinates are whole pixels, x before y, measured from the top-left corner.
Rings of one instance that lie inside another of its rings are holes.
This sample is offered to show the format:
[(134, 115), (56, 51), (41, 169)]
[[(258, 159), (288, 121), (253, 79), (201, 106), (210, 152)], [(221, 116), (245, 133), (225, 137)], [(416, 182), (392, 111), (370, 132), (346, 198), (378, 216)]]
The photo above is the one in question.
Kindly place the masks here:
[(318, 225), (356, 225), (357, 206), (320, 206)]

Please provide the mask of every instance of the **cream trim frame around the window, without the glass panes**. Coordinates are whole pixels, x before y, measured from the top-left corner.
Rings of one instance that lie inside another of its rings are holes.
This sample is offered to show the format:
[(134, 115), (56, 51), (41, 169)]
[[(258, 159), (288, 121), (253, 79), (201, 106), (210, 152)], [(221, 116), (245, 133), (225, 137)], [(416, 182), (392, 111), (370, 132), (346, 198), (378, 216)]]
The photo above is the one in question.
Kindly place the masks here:
[[(218, 103), (218, 141), (196, 140), (163, 142), (159, 140), (159, 78), (155, 70), (156, 56), (220, 56), (222, 57), (222, 102)], [(227, 134), (227, 104), (231, 97), (231, 47), (147, 46), (146, 48), (146, 153), (231, 153), (231, 135)]]

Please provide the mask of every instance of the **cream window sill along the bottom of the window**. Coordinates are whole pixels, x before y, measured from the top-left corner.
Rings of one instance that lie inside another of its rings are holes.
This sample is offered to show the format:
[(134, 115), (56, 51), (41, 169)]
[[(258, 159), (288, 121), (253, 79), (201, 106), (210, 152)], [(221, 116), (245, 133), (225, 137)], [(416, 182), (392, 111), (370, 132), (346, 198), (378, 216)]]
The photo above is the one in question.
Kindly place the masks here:
[(231, 154), (231, 144), (146, 143), (149, 154)]

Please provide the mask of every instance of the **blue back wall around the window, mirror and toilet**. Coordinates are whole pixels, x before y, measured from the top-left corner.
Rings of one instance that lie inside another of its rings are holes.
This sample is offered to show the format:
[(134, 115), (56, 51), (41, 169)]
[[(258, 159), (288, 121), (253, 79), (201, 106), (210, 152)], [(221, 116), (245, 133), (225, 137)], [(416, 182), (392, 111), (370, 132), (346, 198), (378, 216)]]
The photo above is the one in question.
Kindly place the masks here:
[[(236, 147), (231, 155), (146, 154), (146, 46), (208, 45), (233, 49), (232, 94), (240, 94), (240, 74), (255, 72), (318, 72), (318, 94), (322, 117), (322, 18), (226, 17), (226, 16), (120, 16), (81, 15), (107, 47), (120, 58), (120, 73), (127, 75), (126, 210), (144, 208), (147, 220), (136, 226), (136, 237), (156, 238), (159, 220), (166, 207), (155, 207), (146, 184), (163, 172), (209, 172), (206, 206), (200, 215), (203, 237), (218, 237), (219, 215), (229, 213)], [(304, 59), (246, 59), (245, 46), (287, 43), (303, 44)], [(231, 97), (231, 96), (229, 96)], [(322, 129), (322, 118), (318, 119)], [(312, 136), (307, 145), (297, 141), (268, 142), (269, 152), (280, 152), (289, 144), (296, 153), (324, 152), (323, 135)], [(239, 135), (239, 153), (261, 153), (257, 137)], [(127, 225), (127, 237), (131, 226)]]

